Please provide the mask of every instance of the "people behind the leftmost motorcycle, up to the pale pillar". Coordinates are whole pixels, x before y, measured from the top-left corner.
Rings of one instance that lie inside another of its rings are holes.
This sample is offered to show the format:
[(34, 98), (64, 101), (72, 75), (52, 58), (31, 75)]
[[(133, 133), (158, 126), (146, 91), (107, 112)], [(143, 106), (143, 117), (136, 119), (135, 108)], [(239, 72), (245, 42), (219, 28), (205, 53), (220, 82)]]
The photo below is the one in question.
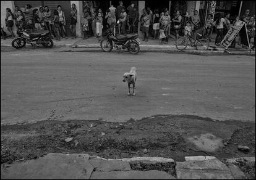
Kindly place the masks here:
[[(77, 23), (77, 9), (75, 4), (71, 5), (70, 10), (70, 31), (73, 38), (76, 38), (75, 25)], [(61, 5), (57, 6), (53, 11), (49, 9), (48, 6), (39, 7), (38, 9), (33, 9), (30, 4), (25, 6), (25, 10), (21, 10), (18, 6), (15, 6), (14, 13), (11, 9), (6, 9), (6, 27), (9, 33), (11, 33), (11, 38), (14, 38), (14, 31), (12, 27), (14, 23), (17, 27), (17, 31), (27, 30), (41, 31), (49, 30), (52, 38), (56, 41), (60, 41), (61, 38), (67, 39), (67, 33), (65, 29), (66, 17)]]

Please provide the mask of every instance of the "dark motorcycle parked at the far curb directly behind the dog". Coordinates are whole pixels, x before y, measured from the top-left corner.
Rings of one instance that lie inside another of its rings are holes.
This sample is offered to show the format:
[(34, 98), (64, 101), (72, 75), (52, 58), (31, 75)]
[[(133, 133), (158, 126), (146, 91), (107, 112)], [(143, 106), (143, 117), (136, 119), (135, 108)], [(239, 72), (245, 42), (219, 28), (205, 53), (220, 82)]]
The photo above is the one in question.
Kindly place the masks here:
[(137, 54), (140, 51), (139, 42), (137, 33), (114, 36), (113, 31), (109, 28), (105, 38), (100, 42), (100, 47), (105, 52), (110, 52), (115, 47), (117, 51), (128, 49), (130, 54)]

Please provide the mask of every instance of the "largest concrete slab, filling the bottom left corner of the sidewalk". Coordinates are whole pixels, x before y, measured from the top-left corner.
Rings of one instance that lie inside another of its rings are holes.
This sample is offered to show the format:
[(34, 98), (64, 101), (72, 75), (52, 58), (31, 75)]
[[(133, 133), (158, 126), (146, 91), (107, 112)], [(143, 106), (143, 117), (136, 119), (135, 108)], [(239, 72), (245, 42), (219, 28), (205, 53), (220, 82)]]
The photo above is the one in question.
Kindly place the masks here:
[(1, 179), (89, 179), (88, 154), (49, 153), (45, 157), (1, 168)]

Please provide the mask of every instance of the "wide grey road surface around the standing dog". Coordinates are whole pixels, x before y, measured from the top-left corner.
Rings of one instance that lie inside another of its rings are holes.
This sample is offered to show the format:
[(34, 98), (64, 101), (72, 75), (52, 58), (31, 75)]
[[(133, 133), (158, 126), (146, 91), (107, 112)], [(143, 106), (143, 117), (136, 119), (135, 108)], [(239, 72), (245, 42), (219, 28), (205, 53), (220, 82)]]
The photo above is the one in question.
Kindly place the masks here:
[[(122, 75), (137, 67), (136, 96)], [(1, 123), (156, 114), (255, 121), (255, 57), (1, 52)]]

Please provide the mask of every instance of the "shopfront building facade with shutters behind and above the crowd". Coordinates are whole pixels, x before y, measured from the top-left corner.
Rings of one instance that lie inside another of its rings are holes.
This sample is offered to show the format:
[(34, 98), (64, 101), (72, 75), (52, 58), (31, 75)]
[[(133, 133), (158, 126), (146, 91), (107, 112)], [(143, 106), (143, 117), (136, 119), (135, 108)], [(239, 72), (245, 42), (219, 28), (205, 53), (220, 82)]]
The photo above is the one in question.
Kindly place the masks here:
[[(128, 7), (130, 5), (131, 1), (123, 1), (124, 6)], [(161, 3), (159, 1), (132, 1), (134, 2), (135, 6), (138, 7), (139, 14), (142, 15), (142, 10), (144, 8), (150, 7), (153, 11), (154, 9), (159, 9), (160, 12), (164, 8), (169, 9), (169, 14), (173, 15), (173, 13), (176, 10), (179, 10), (181, 12), (181, 15), (185, 15), (186, 12), (189, 13), (189, 15), (194, 14), (194, 10), (198, 10), (198, 15), (200, 16), (200, 25), (203, 26), (205, 23), (205, 19), (207, 17), (207, 14), (210, 12), (213, 12), (213, 14), (216, 13), (226, 13), (229, 12), (231, 14), (231, 19), (235, 18), (236, 15), (244, 14), (244, 11), (246, 9), (250, 9), (250, 12), (252, 15), (255, 15), (255, 1), (168, 1), (163, 0)], [(30, 4), (33, 8), (39, 8), (40, 6), (48, 6), (50, 10), (56, 9), (58, 5), (62, 6), (62, 9), (64, 10), (64, 14), (66, 15), (66, 31), (67, 34), (70, 35), (69, 30), (69, 23), (70, 23), (70, 8), (71, 4), (75, 4), (77, 7), (77, 36), (81, 36), (81, 30), (80, 30), (80, 18), (83, 15), (83, 9), (85, 8), (86, 4), (89, 6), (93, 6), (96, 9), (101, 8), (103, 10), (103, 13), (105, 14), (108, 7), (111, 7), (113, 5), (114, 7), (117, 7), (119, 4), (119, 0), (115, 1), (1, 1), (1, 25), (5, 27), (5, 20), (6, 17), (6, 8), (9, 7), (12, 9), (12, 12), (14, 10), (15, 6), (19, 6), (20, 9), (25, 9), (25, 5)], [(185, 22), (184, 22), (185, 23)], [(139, 27), (140, 28), (140, 27)], [(14, 26), (14, 31), (15, 31)]]

